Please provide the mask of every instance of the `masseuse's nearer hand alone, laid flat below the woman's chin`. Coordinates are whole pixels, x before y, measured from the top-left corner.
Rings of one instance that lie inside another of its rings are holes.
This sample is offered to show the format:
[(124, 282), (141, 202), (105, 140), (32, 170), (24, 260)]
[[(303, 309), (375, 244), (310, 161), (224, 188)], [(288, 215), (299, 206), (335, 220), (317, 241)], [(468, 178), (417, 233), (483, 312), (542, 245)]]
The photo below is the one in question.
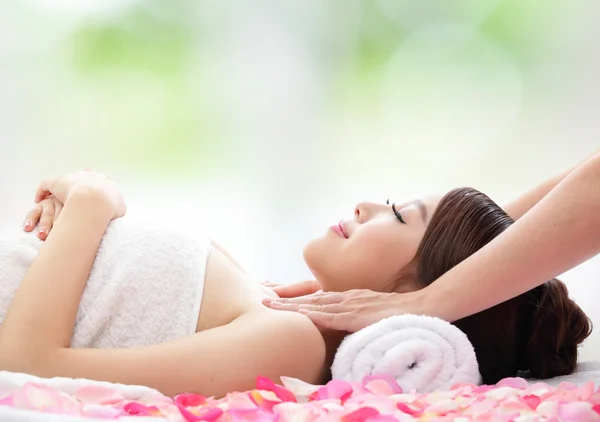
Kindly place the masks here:
[(348, 290), (281, 299), (265, 298), (263, 304), (272, 309), (300, 312), (323, 328), (353, 333), (393, 315), (422, 314), (420, 297), (418, 291), (399, 294)]

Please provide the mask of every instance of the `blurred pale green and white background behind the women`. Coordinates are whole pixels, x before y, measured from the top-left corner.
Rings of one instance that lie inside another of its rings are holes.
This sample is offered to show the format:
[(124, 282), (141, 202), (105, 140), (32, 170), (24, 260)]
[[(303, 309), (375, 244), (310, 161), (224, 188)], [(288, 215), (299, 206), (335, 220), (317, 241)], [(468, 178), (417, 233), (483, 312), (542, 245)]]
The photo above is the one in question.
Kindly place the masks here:
[[(596, 0), (4, 0), (1, 223), (94, 168), (260, 279), (363, 199), (505, 202), (600, 144)], [(594, 314), (600, 262), (565, 275)], [(590, 294), (593, 292), (593, 294)], [(600, 334), (584, 356), (600, 350)]]

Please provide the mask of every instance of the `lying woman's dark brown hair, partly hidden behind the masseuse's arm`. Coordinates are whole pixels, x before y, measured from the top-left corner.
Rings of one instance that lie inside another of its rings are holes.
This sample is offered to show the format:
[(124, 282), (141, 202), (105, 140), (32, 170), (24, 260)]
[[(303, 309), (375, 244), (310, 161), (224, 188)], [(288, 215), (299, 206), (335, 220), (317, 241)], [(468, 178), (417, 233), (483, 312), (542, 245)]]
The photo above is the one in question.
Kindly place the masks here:
[[(422, 287), (433, 283), (513, 222), (475, 189), (450, 191), (440, 201), (400, 282), (411, 278)], [(454, 325), (473, 344), (486, 384), (519, 371), (534, 378), (570, 374), (577, 364), (577, 346), (592, 330), (589, 318), (557, 279)]]

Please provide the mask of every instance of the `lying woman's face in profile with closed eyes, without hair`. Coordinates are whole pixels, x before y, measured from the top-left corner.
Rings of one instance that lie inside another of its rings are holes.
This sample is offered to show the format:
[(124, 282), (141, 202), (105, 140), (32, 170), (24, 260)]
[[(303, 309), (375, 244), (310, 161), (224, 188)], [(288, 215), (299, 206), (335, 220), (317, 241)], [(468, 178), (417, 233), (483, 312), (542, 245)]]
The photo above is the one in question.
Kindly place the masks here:
[[(304, 260), (325, 291), (389, 291), (415, 257), (440, 197), (404, 204), (361, 202), (304, 248)], [(415, 287), (406, 286), (407, 290)]]

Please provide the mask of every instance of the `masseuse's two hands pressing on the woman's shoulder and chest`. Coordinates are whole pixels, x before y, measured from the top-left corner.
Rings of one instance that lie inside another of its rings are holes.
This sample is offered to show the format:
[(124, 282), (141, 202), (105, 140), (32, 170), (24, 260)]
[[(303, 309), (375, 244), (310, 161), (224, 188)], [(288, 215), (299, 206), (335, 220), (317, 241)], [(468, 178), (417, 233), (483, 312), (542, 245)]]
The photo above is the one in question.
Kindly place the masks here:
[(413, 299), (411, 294), (372, 290), (322, 292), (316, 280), (289, 285), (265, 283), (265, 286), (279, 296), (279, 299), (263, 299), (269, 308), (300, 312), (319, 327), (351, 333), (393, 316), (399, 309), (407, 309)]

